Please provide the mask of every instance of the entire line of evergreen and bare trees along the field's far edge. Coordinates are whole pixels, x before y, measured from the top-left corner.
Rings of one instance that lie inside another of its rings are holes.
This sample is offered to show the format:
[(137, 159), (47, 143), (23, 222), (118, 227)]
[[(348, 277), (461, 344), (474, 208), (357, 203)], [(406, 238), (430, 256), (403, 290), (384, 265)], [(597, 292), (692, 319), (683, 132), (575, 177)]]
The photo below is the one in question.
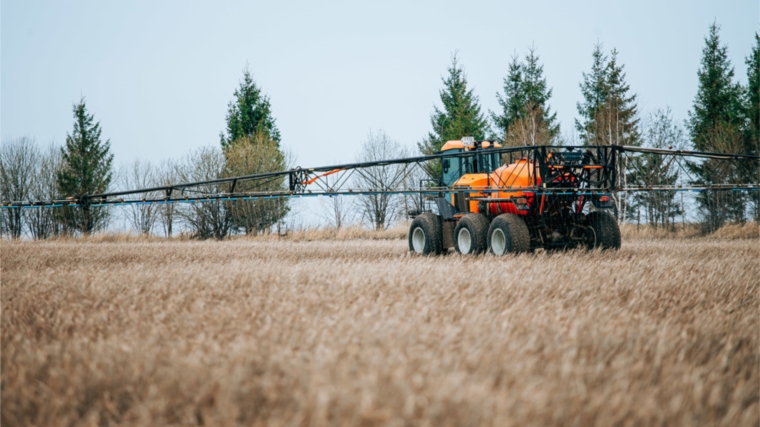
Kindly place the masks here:
[[(626, 82), (625, 66), (616, 49), (606, 51), (600, 43), (591, 54), (591, 67), (579, 84), (582, 99), (576, 105), (575, 137), (563, 133), (549, 102), (552, 88), (544, 77), (537, 49), (513, 56), (496, 94), (497, 111), (484, 112), (456, 54), (439, 92), (441, 106), (430, 118), (431, 131), (417, 144), (423, 154), (440, 151), (448, 140), (462, 136), (493, 139), (504, 146), (525, 145), (633, 145), (654, 148), (692, 148), (699, 151), (760, 153), (760, 36), (755, 34), (752, 51), (746, 57), (747, 85), (735, 81), (728, 59), (728, 47), (721, 44), (720, 27), (713, 23), (702, 49), (697, 71), (698, 88), (688, 119), (677, 123), (670, 108), (663, 107), (642, 117), (637, 94)], [(226, 176), (283, 170), (292, 158), (280, 147), (271, 103), (246, 68), (243, 79), (227, 106), (226, 129), (218, 146), (190, 152), (184, 158), (159, 164), (135, 162), (119, 171), (114, 179), (110, 140), (102, 140), (100, 123), (89, 113), (85, 99), (73, 106), (74, 124), (63, 147), (39, 147), (31, 138), (4, 140), (0, 148), (0, 197), (7, 201), (51, 200), (66, 196), (102, 193), (115, 187), (132, 189), (178, 182), (203, 181)], [(357, 160), (383, 160), (411, 155), (383, 131), (370, 131)], [(635, 172), (620, 179), (636, 180), (631, 174), (646, 174), (657, 168), (653, 156), (635, 159)], [(655, 184), (722, 184), (736, 182), (747, 171), (720, 170), (710, 161), (688, 164), (688, 177), (677, 169), (659, 174)], [(398, 174), (394, 166), (369, 171), (359, 179), (374, 185)], [(435, 166), (429, 171), (440, 174)], [(749, 171), (757, 175), (757, 171)], [(385, 178), (384, 178), (385, 177)], [(411, 177), (415, 180), (419, 177)], [(118, 181), (118, 182), (116, 182)], [(414, 182), (407, 183), (414, 185)], [(253, 188), (254, 185), (258, 187)], [(246, 190), (281, 189), (283, 179), (247, 184)], [(249, 188), (250, 187), (250, 188)], [(209, 185), (203, 192), (224, 192)], [(758, 192), (732, 194), (703, 192), (696, 199), (701, 222), (712, 231), (726, 222), (744, 222), (760, 217)], [(408, 212), (414, 198), (375, 195), (358, 203), (330, 198), (325, 204), (328, 222), (340, 227), (360, 221), (373, 228), (387, 228)], [(616, 200), (621, 222), (636, 221), (672, 227), (683, 218), (685, 206), (675, 192), (640, 193)], [(177, 227), (198, 238), (221, 239), (230, 234), (269, 232), (289, 212), (286, 200), (214, 201), (178, 206), (134, 205), (127, 208), (130, 226), (141, 233), (161, 231), (166, 236)], [(61, 235), (87, 235), (108, 227), (112, 212), (104, 207), (84, 205), (61, 209), (3, 209), (0, 232), (11, 238), (27, 233), (35, 239)]]

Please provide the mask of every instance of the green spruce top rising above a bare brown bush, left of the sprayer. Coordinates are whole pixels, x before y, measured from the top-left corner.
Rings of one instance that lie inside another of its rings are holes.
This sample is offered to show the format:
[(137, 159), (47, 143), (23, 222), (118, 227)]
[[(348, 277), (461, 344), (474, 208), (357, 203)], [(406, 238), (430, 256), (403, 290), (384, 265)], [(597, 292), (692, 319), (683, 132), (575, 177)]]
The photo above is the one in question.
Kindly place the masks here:
[(234, 97), (227, 105), (227, 133), (219, 135), (222, 147), (240, 138), (253, 138), (257, 134), (275, 141), (279, 147), (280, 130), (272, 117), (269, 98), (253, 81), (247, 67), (243, 70), (243, 81), (235, 89)]

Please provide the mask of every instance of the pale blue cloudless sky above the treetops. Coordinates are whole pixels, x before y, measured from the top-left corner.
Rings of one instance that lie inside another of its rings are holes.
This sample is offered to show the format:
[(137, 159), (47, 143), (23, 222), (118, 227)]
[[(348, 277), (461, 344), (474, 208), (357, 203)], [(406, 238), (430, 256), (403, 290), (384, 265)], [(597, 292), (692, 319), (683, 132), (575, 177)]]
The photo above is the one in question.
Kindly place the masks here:
[(81, 95), (117, 163), (219, 143), (246, 63), (301, 166), (349, 160), (370, 128), (413, 146), (459, 51), (484, 111), (510, 57), (535, 45), (572, 132), (594, 43), (616, 47), (642, 113), (682, 120), (713, 20), (741, 81), (757, 0), (628, 2), (6, 1), (3, 138), (62, 144)]

